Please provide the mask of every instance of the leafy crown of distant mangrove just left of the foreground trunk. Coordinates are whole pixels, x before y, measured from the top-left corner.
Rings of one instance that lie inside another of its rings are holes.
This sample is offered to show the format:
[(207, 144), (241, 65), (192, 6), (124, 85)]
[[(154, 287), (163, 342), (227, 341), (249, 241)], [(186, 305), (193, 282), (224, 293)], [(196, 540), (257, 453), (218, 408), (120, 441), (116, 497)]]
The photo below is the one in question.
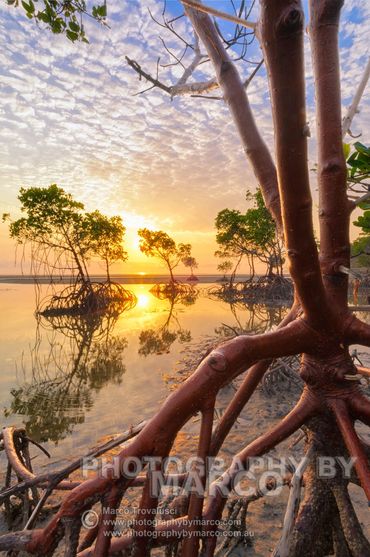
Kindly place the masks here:
[[(216, 217), (216, 241), (222, 257), (257, 258), (269, 269), (281, 266), (281, 248), (276, 235), (273, 218), (265, 206), (260, 190), (255, 194), (247, 192), (247, 200), (254, 205), (245, 213), (235, 209), (223, 209)], [(223, 269), (220, 269), (223, 270)], [(228, 270), (228, 269), (227, 269)]]

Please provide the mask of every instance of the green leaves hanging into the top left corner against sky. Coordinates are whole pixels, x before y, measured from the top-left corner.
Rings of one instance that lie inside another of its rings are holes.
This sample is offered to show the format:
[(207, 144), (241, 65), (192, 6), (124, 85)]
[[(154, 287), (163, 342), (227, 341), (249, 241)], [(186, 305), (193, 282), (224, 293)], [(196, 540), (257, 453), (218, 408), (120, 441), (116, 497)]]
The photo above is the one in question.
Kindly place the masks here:
[(44, 23), (52, 33), (64, 34), (72, 42), (88, 42), (83, 17), (91, 17), (100, 23), (106, 22), (107, 6), (90, 6), (85, 0), (6, 0), (14, 7), (21, 6), (29, 19)]

